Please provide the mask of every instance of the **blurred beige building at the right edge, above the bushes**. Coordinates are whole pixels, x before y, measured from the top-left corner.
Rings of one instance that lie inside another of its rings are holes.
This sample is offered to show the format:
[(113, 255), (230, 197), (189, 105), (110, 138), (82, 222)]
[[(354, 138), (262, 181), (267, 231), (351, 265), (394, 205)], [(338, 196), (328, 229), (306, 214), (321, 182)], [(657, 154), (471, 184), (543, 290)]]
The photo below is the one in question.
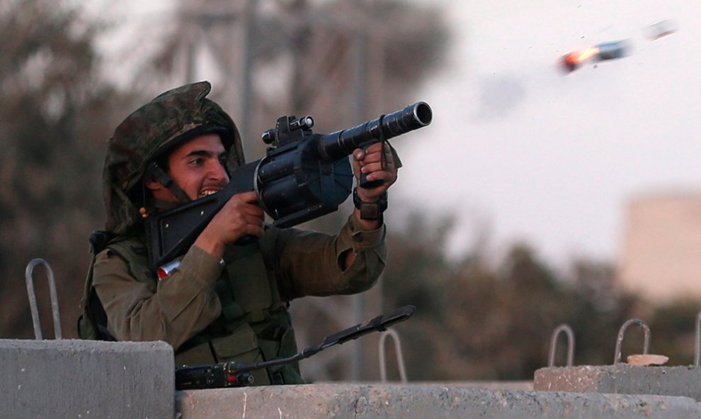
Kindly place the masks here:
[(701, 300), (701, 191), (630, 201), (617, 278), (652, 302)]

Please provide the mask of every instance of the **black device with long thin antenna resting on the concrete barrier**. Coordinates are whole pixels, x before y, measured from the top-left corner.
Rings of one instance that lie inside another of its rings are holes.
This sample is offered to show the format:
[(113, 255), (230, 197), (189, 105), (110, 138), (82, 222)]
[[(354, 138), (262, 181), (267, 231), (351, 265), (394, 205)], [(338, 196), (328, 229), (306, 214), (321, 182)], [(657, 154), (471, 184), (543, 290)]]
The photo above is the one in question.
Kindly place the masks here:
[(334, 345), (341, 345), (349, 340), (376, 331), (384, 331), (390, 325), (407, 320), (414, 314), (416, 307), (404, 306), (389, 314), (378, 315), (365, 325), (358, 324), (341, 332), (324, 338), (321, 344), (308, 347), (292, 357), (273, 359), (264, 362), (220, 362), (219, 364), (183, 366), (176, 368), (176, 390), (223, 389), (227, 387), (244, 387), (253, 384), (253, 376), (249, 371), (275, 367), (278, 365), (297, 362)]

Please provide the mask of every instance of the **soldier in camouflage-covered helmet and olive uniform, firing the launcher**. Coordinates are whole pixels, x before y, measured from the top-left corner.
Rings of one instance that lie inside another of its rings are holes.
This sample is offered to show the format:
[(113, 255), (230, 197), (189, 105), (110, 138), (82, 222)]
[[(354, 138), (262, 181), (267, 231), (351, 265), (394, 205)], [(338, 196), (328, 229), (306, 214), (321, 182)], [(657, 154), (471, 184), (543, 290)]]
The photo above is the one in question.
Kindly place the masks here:
[[(166, 91), (110, 138), (103, 172), (107, 231), (91, 239), (82, 338), (164, 340), (176, 365), (290, 357), (297, 353), (287, 312), (293, 298), (365, 291), (382, 272), (382, 211), (363, 220), (356, 208), (337, 235), (280, 229), (264, 222), (253, 191), (234, 195), (167, 276), (149, 269), (143, 217), (217, 193), (244, 164), (234, 122), (205, 97), (210, 88), (200, 82)], [(363, 172), (382, 181), (373, 189), (358, 186), (355, 201), (386, 199), (399, 167), (393, 156), (381, 143), (353, 152), (356, 178)], [(233, 245), (244, 235), (258, 240)], [(297, 364), (253, 377), (256, 384), (304, 382)]]

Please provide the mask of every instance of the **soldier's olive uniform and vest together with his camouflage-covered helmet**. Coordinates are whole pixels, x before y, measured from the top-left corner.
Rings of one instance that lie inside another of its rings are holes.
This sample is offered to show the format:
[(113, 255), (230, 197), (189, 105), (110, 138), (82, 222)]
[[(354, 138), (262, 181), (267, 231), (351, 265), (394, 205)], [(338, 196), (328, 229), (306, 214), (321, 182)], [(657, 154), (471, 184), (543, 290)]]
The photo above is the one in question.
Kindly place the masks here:
[[(255, 244), (229, 245), (222, 260), (193, 245), (159, 280), (149, 271), (141, 239), (139, 208), (157, 211), (144, 199), (142, 179), (149, 163), (184, 140), (210, 132), (220, 135), (229, 170), (244, 163), (239, 133), (231, 118), (205, 98), (209, 91), (207, 82), (168, 91), (115, 130), (103, 173), (106, 230), (114, 238), (94, 255), (83, 304), (89, 307), (91, 298), (99, 298), (107, 330), (117, 340), (169, 342), (178, 365), (289, 357), (297, 345), (287, 303), (370, 288), (384, 267), (385, 228), (367, 231), (353, 216), (338, 235), (268, 225)], [(343, 269), (347, 252), (355, 258)], [(86, 324), (79, 323), (79, 334), (93, 337)], [(256, 384), (304, 382), (296, 364), (253, 376)]]

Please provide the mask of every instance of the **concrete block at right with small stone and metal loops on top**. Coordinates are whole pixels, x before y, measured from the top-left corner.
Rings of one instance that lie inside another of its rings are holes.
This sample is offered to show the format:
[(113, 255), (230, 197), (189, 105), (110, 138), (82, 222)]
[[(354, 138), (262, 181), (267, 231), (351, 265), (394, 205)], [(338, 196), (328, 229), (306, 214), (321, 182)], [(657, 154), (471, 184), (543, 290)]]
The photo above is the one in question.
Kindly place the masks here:
[(701, 368), (628, 364), (549, 367), (535, 371), (533, 388), (583, 393), (658, 394), (701, 401)]

